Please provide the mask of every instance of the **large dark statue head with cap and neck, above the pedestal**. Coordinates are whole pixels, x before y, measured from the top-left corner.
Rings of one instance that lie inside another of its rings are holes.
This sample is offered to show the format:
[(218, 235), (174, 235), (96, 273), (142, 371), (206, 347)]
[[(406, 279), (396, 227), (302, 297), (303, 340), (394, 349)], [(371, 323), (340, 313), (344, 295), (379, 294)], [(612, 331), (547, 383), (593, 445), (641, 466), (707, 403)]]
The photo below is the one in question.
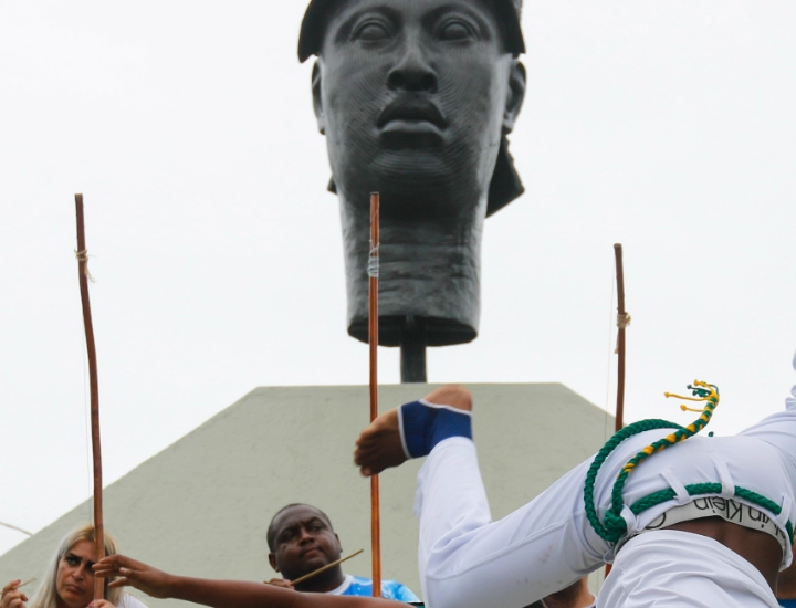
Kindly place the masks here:
[(381, 195), (379, 342), (478, 332), (483, 219), (522, 193), (512, 0), (313, 0), (298, 42), (341, 198), (348, 332), (367, 340), (368, 201)]

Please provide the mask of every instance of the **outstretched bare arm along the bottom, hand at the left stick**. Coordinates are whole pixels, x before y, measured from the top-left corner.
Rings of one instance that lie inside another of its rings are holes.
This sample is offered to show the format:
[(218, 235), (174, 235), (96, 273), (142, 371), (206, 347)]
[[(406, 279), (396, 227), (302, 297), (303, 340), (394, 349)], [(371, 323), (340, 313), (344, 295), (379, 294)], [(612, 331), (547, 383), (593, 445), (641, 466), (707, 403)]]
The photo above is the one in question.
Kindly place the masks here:
[(101, 559), (94, 572), (118, 577), (109, 587), (130, 586), (157, 598), (174, 598), (212, 608), (396, 608), (399, 601), (370, 597), (300, 594), (262, 583), (211, 580), (165, 573), (124, 555)]

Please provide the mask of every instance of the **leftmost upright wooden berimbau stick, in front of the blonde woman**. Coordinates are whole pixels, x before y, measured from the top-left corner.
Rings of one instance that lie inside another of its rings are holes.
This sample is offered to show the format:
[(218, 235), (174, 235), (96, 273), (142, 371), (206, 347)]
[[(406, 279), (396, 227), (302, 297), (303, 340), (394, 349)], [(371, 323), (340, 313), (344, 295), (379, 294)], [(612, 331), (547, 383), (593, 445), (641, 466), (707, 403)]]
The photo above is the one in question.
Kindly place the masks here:
[[(83, 326), (86, 335), (86, 349), (88, 352), (88, 382), (91, 386), (91, 421), (92, 421), (92, 459), (94, 461), (94, 543), (96, 544), (96, 560), (105, 557), (105, 531), (102, 511), (102, 450), (100, 445), (100, 382), (97, 380), (96, 345), (94, 344), (94, 325), (91, 316), (91, 301), (88, 300), (88, 254), (85, 245), (85, 229), (83, 227), (83, 195), (75, 195), (75, 210), (77, 214), (77, 279), (80, 280), (81, 304), (83, 306)], [(105, 580), (96, 577), (94, 580), (94, 599), (104, 599)]]

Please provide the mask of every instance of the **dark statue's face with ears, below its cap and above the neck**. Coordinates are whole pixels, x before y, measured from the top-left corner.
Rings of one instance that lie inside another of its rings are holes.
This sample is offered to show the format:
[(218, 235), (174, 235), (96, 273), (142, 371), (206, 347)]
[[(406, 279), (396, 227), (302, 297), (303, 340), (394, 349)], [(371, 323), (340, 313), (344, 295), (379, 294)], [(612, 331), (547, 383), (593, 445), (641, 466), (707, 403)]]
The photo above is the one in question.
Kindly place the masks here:
[(486, 4), (348, 0), (320, 55), (315, 111), (344, 195), (411, 193), (423, 208), (423, 192), (485, 198), (524, 93)]

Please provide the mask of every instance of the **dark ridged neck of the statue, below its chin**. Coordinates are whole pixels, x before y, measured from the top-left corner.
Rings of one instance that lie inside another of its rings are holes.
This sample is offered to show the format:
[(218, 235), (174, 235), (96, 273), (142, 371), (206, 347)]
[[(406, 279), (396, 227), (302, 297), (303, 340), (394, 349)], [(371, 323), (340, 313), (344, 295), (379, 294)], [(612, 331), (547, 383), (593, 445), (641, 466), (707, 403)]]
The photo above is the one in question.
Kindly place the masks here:
[[(369, 200), (356, 206), (341, 202), (348, 328), (366, 339)], [(417, 199), (396, 202), (385, 197), (381, 205), (379, 342), (397, 345), (407, 317), (426, 327), (429, 345), (470, 342), (478, 332), (485, 199), (440, 197), (421, 205)]]

